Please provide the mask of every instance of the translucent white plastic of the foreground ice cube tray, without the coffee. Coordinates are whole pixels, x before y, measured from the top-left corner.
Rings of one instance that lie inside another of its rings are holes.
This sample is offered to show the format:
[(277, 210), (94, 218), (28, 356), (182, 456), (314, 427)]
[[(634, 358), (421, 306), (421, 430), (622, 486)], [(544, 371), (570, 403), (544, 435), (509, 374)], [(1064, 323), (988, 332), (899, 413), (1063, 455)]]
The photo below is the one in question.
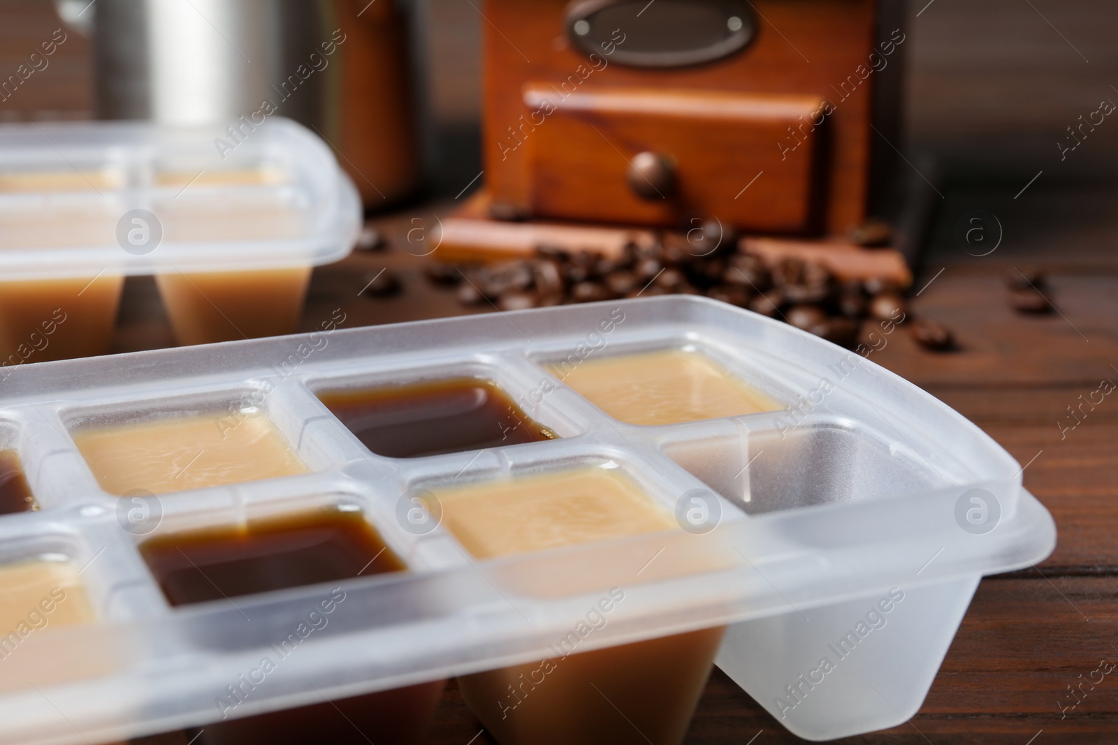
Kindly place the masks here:
[[(622, 319), (606, 334), (612, 317)], [(792, 409), (635, 427), (542, 366), (664, 347), (695, 347)], [(560, 439), (389, 459), (314, 395), (462, 374), (494, 380)], [(824, 380), (833, 390), (819, 398)], [(527, 405), (542, 381), (556, 390)], [(872, 730), (919, 708), (979, 577), (1039, 562), (1055, 542), (1018, 465), (966, 419), (851, 352), (701, 298), (23, 365), (3, 384), (0, 419), (42, 509), (0, 518), (0, 561), (44, 551), (93, 560), (82, 579), (101, 622), (31, 634), (0, 663), (0, 743), (101, 742), (217, 720), (226, 687), (323, 596), (320, 585), (172, 610), (140, 538), (117, 524), (117, 497), (98, 488), (68, 434), (91, 418), (224, 410), (273, 386), (259, 405), (313, 472), (161, 496), (160, 531), (349, 504), (411, 571), (342, 582), (344, 606), (234, 716), (552, 657), (549, 644), (620, 586), (624, 602), (580, 650), (729, 623), (718, 663), (785, 726), (812, 739)], [(717, 488), (721, 522), (704, 536), (472, 561), (442, 527), (415, 535), (397, 518), (415, 487), (593, 464), (619, 465), (673, 510), (692, 489)], [(972, 488), (1001, 507), (988, 533), (956, 518)], [(67, 663), (91, 656), (102, 672)]]

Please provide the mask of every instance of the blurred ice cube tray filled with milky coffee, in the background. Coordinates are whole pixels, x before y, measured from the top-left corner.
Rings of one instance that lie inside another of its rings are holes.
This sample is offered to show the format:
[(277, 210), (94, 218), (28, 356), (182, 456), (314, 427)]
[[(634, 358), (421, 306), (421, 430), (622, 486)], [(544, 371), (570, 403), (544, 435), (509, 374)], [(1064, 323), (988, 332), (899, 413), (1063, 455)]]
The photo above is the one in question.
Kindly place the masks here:
[(282, 117), (0, 125), (0, 364), (103, 354), (127, 275), (155, 276), (181, 344), (291, 333), (360, 225), (330, 147)]

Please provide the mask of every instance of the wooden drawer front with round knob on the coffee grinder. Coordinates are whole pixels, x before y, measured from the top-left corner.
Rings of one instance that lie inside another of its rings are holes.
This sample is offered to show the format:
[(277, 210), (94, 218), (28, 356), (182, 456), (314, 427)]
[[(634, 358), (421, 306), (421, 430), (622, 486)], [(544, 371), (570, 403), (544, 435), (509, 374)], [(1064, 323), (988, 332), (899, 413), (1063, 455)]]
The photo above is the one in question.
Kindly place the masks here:
[(816, 96), (530, 84), (523, 102), (533, 217), (815, 227), (826, 134)]

